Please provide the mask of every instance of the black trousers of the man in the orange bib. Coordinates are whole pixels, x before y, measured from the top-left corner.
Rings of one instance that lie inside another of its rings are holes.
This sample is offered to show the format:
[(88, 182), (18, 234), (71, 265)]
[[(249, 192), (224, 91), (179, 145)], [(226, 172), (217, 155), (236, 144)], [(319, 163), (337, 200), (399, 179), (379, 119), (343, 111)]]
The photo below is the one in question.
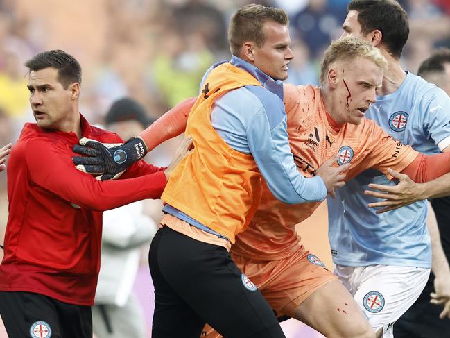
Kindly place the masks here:
[(284, 337), (261, 292), (225, 248), (164, 226), (149, 253), (153, 338), (198, 338), (205, 323), (227, 338)]

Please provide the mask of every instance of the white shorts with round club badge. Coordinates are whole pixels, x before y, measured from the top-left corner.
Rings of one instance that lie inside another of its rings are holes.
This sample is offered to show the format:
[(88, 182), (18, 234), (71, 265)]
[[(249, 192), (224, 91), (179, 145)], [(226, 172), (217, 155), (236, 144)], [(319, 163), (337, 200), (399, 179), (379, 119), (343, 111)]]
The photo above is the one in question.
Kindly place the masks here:
[(395, 321), (413, 305), (426, 285), (430, 269), (370, 265), (334, 265), (334, 274), (352, 294), (374, 332), (392, 338)]

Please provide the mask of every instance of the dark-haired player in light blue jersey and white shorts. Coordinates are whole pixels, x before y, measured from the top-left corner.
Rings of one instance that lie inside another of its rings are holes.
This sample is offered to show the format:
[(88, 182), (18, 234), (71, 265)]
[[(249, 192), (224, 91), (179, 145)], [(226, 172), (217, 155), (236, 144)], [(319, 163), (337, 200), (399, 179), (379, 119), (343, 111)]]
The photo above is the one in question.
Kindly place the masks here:
[[(366, 117), (417, 151), (449, 151), (449, 96), (399, 63), (409, 33), (406, 12), (392, 0), (354, 0), (348, 9), (343, 35), (372, 42), (389, 64), (377, 103)], [(328, 199), (331, 253), (334, 272), (377, 337), (393, 337), (393, 323), (414, 303), (429, 277), (426, 201), (377, 214), (367, 204), (379, 200), (364, 194), (370, 183), (395, 185), (380, 172), (367, 170), (338, 189), (336, 199)]]

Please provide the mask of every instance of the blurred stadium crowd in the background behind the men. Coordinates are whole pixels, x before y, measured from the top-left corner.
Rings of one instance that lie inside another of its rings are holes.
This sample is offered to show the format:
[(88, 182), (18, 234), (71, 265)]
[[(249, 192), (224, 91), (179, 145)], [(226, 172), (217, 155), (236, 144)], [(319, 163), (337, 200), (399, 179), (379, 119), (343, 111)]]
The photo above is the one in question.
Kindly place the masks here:
[[(0, 0), (0, 145), (15, 142), (26, 121), (24, 62), (63, 49), (83, 67), (80, 111), (103, 124), (113, 101), (128, 96), (157, 119), (189, 96), (211, 63), (230, 58), (227, 24), (234, 11), (261, 3), (288, 11), (295, 58), (288, 81), (318, 83), (322, 52), (342, 33), (348, 0)], [(410, 37), (401, 62), (415, 73), (435, 47), (450, 47), (450, 1), (401, 0)], [(168, 164), (176, 141), (150, 153)], [(0, 238), (8, 217), (6, 175), (0, 175)], [(159, 221), (159, 201), (146, 212)], [(322, 209), (324, 210), (324, 209)], [(0, 241), (2, 242), (2, 241)], [(0, 252), (0, 258), (2, 253)]]

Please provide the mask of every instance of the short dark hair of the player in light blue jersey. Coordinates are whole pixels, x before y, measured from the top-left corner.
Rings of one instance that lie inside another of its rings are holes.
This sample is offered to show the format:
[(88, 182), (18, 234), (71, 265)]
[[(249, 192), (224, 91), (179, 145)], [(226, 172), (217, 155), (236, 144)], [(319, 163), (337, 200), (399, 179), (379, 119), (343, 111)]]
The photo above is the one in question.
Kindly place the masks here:
[(408, 40), (409, 23), (406, 11), (395, 0), (352, 0), (348, 10), (358, 12), (358, 22), (364, 35), (378, 29), (383, 34), (381, 43), (399, 59)]

